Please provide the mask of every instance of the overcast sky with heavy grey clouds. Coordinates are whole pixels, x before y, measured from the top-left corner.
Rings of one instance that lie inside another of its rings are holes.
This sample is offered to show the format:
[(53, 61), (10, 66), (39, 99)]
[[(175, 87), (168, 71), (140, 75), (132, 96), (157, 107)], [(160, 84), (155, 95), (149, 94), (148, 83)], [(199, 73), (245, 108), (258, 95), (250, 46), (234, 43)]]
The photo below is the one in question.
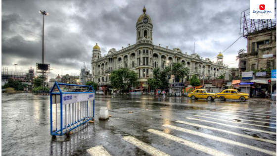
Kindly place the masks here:
[[(79, 75), (84, 62), (91, 70), (92, 48), (102, 56), (136, 43), (136, 22), (143, 13), (152, 19), (153, 44), (183, 53), (214, 58), (227, 49), (240, 30), (240, 13), (249, 0), (2, 0), (2, 67), (27, 72), (42, 62), (42, 25), (45, 17), (45, 63), (51, 74)], [(235, 56), (246, 49), (240, 38), (224, 52), (224, 62), (237, 67)], [(216, 61), (216, 59), (214, 59)]]

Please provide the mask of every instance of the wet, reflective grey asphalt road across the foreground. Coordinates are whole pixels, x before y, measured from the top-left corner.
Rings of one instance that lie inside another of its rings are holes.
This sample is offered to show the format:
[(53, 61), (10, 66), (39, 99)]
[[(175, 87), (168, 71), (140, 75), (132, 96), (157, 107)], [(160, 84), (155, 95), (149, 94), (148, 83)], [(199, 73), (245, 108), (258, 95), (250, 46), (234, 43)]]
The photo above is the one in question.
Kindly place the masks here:
[[(96, 96), (94, 123), (78, 127), (70, 137), (52, 137), (49, 96), (1, 97), (2, 156), (91, 156), (87, 149), (95, 146), (103, 146), (111, 156), (151, 156), (124, 136), (135, 137), (171, 156), (276, 155), (276, 104), (267, 101)], [(98, 120), (101, 106), (107, 106), (112, 117)], [(184, 140), (176, 141), (149, 129)], [(184, 145), (186, 141), (193, 145)]]

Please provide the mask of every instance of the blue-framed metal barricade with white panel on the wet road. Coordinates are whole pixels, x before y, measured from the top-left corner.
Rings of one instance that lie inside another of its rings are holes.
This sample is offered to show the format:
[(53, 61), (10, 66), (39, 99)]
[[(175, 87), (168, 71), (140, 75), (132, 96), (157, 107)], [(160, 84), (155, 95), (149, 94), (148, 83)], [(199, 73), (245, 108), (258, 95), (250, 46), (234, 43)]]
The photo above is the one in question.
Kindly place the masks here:
[[(62, 92), (59, 85), (87, 87), (88, 91)], [(94, 94), (92, 86), (55, 82), (50, 91), (50, 134), (69, 135), (71, 130), (94, 120)]]

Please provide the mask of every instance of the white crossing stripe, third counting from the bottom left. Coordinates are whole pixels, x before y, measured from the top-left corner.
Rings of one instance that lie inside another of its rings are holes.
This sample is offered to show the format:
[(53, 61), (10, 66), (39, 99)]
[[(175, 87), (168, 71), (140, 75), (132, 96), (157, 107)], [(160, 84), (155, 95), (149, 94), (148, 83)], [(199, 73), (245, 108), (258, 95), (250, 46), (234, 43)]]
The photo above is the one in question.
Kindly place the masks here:
[(209, 147), (206, 147), (206, 146), (203, 146), (203, 145), (200, 145), (200, 144), (197, 144), (197, 143), (194, 143), (194, 142), (191, 142), (191, 141), (188, 141), (188, 140), (185, 140), (185, 139), (182, 139), (182, 138), (179, 138), (179, 137), (176, 137), (176, 136), (173, 136), (173, 135), (155, 130), (155, 129), (148, 129), (147, 131), (150, 132), (150, 133), (165, 137), (166, 139), (170, 139), (172, 141), (178, 142), (180, 144), (183, 144), (183, 145), (188, 146), (190, 148), (193, 148), (195, 150), (204, 152), (204, 153), (209, 154), (211, 156), (232, 156), (232, 155), (228, 155), (226, 153), (223, 153), (221, 151), (218, 151), (218, 150), (215, 150), (215, 149), (212, 149), (212, 148), (209, 148)]

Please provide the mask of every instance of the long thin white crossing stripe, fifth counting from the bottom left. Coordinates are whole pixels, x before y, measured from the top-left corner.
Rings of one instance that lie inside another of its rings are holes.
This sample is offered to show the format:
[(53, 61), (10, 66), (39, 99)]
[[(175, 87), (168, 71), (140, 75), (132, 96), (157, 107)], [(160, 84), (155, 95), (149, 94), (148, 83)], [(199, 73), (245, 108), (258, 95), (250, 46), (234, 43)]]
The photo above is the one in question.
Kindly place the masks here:
[(216, 130), (216, 131), (221, 131), (221, 132), (229, 133), (229, 134), (232, 134), (232, 135), (236, 135), (236, 136), (244, 137), (244, 138), (248, 138), (248, 139), (253, 139), (253, 140), (258, 140), (258, 141), (263, 141), (263, 142), (276, 144), (276, 141), (273, 141), (273, 140), (257, 138), (257, 137), (253, 137), (251, 135), (235, 133), (235, 132), (227, 131), (227, 130), (224, 130), (224, 129), (214, 128), (214, 127), (210, 127), (210, 126), (205, 126), (205, 125), (200, 125), (200, 124), (185, 122), (185, 121), (179, 121), (179, 120), (175, 121), (175, 122), (186, 124), (186, 125), (191, 125), (191, 126), (196, 126), (196, 127), (201, 127), (201, 128), (206, 128), (206, 129), (211, 129), (211, 130)]

